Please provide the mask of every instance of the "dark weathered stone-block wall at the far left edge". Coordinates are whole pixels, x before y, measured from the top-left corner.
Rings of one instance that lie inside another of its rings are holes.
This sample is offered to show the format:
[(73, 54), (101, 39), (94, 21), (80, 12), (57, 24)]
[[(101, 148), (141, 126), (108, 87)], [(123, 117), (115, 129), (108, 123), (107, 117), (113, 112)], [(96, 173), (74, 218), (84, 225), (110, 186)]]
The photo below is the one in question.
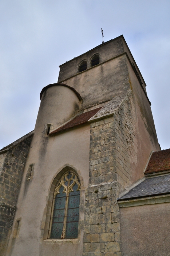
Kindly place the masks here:
[(5, 255), (32, 135), (0, 155), (0, 256)]

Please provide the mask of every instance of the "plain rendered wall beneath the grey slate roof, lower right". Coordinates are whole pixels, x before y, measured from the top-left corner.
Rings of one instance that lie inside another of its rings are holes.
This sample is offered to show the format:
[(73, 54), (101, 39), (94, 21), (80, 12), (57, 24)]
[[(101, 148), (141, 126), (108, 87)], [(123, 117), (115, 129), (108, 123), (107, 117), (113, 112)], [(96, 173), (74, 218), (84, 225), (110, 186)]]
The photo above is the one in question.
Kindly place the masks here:
[(120, 208), (122, 256), (170, 255), (170, 203)]

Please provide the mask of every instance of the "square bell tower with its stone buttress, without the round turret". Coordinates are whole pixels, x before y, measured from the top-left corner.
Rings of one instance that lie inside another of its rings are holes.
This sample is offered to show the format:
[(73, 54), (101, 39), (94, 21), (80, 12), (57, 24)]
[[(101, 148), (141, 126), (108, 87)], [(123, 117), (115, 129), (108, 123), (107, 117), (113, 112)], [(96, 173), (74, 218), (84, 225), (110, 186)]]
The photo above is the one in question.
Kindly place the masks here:
[[(99, 63), (92, 65), (94, 56)], [(83, 63), (83, 64), (82, 64)], [(83, 65), (87, 65), (85, 70)], [(160, 150), (146, 84), (120, 36), (60, 66), (58, 82), (80, 93), (90, 118), (89, 183), (85, 194), (83, 255), (119, 256), (117, 198), (140, 180)]]

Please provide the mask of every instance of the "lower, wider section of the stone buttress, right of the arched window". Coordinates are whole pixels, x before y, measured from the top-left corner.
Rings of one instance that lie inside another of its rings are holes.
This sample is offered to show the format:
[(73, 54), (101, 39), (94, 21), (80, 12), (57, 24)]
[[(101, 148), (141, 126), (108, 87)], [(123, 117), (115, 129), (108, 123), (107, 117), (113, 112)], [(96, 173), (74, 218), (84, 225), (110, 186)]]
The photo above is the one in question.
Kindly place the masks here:
[(83, 255), (120, 255), (119, 207), (116, 203), (118, 193), (118, 182), (87, 188)]

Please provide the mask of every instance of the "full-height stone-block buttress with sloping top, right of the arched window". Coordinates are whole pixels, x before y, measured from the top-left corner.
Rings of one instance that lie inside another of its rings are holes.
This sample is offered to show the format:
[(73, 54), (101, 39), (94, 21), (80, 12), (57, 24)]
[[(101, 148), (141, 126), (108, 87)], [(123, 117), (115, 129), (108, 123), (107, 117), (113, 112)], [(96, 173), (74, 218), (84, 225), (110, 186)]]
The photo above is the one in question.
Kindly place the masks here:
[(132, 95), (112, 116), (91, 123), (89, 186), (85, 194), (83, 255), (120, 256), (117, 198), (131, 185), (130, 152), (134, 147)]

